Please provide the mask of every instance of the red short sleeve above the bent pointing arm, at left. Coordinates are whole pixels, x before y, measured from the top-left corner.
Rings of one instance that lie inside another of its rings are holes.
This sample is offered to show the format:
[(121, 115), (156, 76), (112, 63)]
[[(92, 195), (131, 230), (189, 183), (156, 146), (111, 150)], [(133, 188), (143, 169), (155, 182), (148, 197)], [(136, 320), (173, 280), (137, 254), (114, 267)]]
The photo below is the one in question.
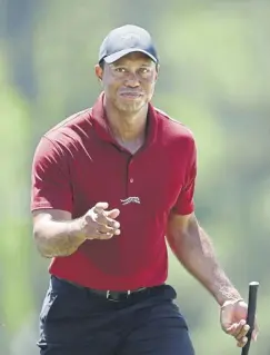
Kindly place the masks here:
[(42, 137), (31, 171), (31, 211), (41, 208), (72, 211), (72, 189), (67, 150)]

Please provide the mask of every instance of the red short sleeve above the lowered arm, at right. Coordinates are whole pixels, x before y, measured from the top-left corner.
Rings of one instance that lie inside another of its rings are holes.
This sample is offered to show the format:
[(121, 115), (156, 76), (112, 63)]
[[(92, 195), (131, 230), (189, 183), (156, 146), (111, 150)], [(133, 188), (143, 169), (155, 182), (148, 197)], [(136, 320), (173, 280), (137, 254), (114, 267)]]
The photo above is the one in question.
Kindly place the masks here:
[(178, 215), (190, 215), (194, 211), (194, 189), (196, 189), (196, 178), (197, 178), (197, 148), (192, 140), (190, 145), (186, 181), (178, 196), (177, 203), (172, 208), (172, 211)]

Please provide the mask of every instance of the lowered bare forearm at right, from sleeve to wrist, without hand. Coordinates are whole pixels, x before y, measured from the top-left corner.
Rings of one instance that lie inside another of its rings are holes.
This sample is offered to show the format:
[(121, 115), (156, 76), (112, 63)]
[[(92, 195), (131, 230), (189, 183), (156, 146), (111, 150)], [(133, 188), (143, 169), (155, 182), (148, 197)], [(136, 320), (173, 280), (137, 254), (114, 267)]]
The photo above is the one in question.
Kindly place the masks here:
[(219, 265), (210, 238), (198, 224), (181, 235), (168, 236), (177, 258), (222, 305), (228, 299), (241, 298)]

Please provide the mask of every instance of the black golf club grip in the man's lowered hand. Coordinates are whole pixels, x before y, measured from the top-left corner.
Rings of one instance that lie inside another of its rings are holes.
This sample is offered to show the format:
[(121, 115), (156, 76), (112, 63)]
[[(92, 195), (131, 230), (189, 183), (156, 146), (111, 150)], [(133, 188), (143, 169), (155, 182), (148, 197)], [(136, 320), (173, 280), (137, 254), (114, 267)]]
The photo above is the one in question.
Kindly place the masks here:
[(250, 329), (247, 334), (248, 342), (242, 347), (241, 355), (248, 355), (251, 342), (251, 335), (254, 329), (254, 318), (256, 318), (256, 308), (257, 308), (257, 294), (258, 294), (259, 283), (253, 282), (249, 284), (249, 303), (248, 303), (248, 316), (247, 324), (250, 326)]

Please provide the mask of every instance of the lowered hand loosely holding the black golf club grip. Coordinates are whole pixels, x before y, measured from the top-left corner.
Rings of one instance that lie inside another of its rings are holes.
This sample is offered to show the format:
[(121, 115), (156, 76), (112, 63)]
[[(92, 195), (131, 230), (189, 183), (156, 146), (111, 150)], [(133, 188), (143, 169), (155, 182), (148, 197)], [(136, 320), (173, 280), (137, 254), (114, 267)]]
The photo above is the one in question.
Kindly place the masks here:
[[(248, 305), (243, 300), (233, 302), (227, 300), (220, 310), (220, 323), (222, 329), (233, 336), (237, 341), (237, 346), (243, 347), (248, 342), (247, 334), (250, 329), (247, 324)], [(254, 324), (252, 332), (252, 339), (256, 341), (258, 336), (258, 325)]]

